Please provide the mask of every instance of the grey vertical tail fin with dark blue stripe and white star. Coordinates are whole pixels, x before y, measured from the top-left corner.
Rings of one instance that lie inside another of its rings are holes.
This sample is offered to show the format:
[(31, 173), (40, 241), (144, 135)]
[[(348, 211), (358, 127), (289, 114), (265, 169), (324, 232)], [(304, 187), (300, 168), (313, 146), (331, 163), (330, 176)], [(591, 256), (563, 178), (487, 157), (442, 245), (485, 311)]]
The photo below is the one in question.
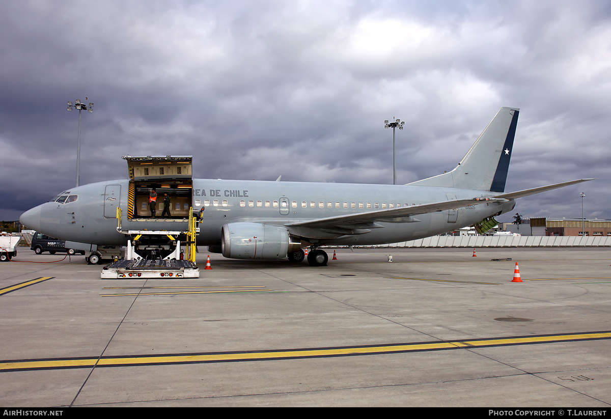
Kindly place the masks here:
[(452, 172), (409, 183), (504, 192), (519, 109), (502, 107)]

